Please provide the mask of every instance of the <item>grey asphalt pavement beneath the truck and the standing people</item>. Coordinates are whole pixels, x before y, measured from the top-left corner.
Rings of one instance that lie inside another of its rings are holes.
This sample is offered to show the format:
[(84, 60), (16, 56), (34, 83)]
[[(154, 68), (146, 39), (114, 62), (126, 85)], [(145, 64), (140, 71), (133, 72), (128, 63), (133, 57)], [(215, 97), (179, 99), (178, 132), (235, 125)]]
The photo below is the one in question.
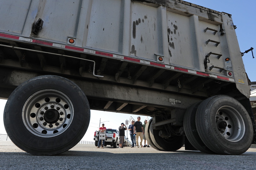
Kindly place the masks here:
[(20, 150), (11, 141), (0, 141), (0, 170), (4, 169), (256, 169), (256, 148), (241, 155), (205, 154), (199, 151), (163, 152), (154, 148), (96, 148), (77, 144), (56, 156), (36, 156)]

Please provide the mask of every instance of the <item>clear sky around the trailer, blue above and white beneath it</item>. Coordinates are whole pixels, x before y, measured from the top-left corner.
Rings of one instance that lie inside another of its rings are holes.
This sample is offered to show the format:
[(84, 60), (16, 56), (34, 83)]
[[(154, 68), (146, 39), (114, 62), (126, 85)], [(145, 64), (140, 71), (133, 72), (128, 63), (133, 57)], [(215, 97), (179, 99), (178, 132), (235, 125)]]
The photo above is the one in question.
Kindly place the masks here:
[[(256, 57), (256, 15), (254, 12), (256, 0), (188, 0), (188, 2), (204, 6), (215, 11), (231, 14), (233, 23), (237, 26), (236, 35), (241, 52), (253, 47), (255, 48), (254, 55)], [(243, 56), (243, 61), (249, 79), (251, 81), (256, 81), (256, 76), (254, 74), (256, 58), (253, 59), (252, 53), (249, 52)], [(0, 134), (6, 134), (3, 125), (3, 111), (5, 102), (6, 100), (0, 100)], [(137, 115), (92, 110), (89, 128), (82, 140), (93, 141), (93, 134), (94, 131), (99, 128), (100, 118), (101, 122), (104, 122), (107, 128), (117, 129), (122, 122), (125, 122), (127, 119), (129, 120), (130, 116), (132, 116), (134, 119), (137, 117)], [(141, 116), (141, 122), (143, 122), (145, 118), (146, 116)]]

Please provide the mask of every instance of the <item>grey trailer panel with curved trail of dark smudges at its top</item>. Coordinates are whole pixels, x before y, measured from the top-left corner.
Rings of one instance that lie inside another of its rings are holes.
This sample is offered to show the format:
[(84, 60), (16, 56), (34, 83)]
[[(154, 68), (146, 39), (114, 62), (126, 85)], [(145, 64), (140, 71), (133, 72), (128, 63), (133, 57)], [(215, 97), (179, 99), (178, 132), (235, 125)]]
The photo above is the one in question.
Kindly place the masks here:
[(154, 60), (158, 52), (157, 9), (132, 3), (131, 55)]

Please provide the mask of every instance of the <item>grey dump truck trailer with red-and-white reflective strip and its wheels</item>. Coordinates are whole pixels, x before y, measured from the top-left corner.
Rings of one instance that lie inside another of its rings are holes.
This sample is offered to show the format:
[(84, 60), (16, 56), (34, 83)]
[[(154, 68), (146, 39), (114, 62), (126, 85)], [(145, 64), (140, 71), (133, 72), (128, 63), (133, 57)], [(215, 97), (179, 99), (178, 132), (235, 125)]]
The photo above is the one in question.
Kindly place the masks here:
[(152, 117), (157, 150), (242, 154), (255, 139), (231, 15), (182, 0), (0, 2), (0, 98), (12, 142), (55, 155), (90, 109)]

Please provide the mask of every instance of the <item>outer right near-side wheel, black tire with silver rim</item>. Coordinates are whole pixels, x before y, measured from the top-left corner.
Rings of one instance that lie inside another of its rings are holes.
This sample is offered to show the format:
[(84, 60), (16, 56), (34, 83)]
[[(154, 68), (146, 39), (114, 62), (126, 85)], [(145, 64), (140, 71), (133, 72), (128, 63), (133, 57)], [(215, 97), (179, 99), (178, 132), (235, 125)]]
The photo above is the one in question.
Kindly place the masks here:
[[(225, 120), (219, 129), (217, 122)], [(196, 128), (204, 144), (218, 154), (238, 155), (252, 144), (253, 128), (250, 116), (236, 99), (217, 95), (204, 100), (196, 112)]]

